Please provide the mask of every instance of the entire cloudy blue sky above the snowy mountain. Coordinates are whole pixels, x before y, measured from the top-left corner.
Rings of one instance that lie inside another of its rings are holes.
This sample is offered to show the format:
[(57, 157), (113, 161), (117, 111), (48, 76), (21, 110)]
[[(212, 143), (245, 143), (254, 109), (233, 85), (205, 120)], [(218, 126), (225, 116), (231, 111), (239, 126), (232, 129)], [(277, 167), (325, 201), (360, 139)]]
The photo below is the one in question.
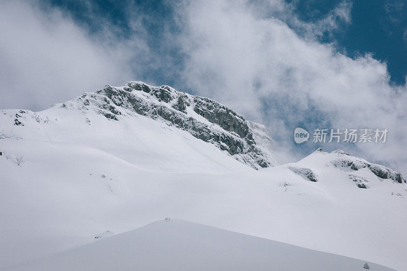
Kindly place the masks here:
[[(171, 85), (271, 130), (280, 162), (322, 146), (407, 171), (403, 1), (0, 3), (0, 107), (46, 109), (105, 84)], [(294, 129), (389, 130), (295, 144)]]

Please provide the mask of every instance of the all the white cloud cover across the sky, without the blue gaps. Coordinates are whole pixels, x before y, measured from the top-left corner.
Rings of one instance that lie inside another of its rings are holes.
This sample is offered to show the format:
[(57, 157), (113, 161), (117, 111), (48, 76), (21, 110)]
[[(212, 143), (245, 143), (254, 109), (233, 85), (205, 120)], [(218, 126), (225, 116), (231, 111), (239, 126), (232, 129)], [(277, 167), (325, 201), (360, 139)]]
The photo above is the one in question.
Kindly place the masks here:
[(386, 161), (407, 174), (405, 86), (390, 85), (386, 64), (372, 55), (352, 59), (317, 39), (352, 23), (350, 2), (314, 23), (302, 22), (282, 1), (177, 2), (172, 8), (179, 31), (165, 32), (160, 44), (182, 55), (181, 70), (148, 46), (142, 33), (149, 33), (135, 14), (137, 34), (115, 40), (118, 30), (107, 22), (91, 35), (59, 10), (44, 12), (22, 2), (0, 6), (0, 29), (8, 37), (0, 40), (0, 107), (44, 109), (165, 67), (161, 72), (175, 78), (180, 90), (192, 89), (268, 125), (281, 162), (305, 152), (293, 140), (300, 124), (387, 128), (383, 144), (326, 147)]

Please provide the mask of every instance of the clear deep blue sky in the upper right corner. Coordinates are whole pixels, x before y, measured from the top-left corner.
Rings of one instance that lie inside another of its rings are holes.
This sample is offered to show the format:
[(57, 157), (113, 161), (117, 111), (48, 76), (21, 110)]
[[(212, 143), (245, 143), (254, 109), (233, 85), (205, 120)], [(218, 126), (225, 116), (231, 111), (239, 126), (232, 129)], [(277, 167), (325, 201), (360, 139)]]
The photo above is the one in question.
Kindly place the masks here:
[[(289, 1), (299, 17), (313, 21), (341, 1)], [(404, 84), (407, 74), (407, 3), (405, 1), (352, 1), (352, 23), (344, 24), (323, 42), (335, 42), (350, 57), (372, 53), (387, 63), (390, 80)]]

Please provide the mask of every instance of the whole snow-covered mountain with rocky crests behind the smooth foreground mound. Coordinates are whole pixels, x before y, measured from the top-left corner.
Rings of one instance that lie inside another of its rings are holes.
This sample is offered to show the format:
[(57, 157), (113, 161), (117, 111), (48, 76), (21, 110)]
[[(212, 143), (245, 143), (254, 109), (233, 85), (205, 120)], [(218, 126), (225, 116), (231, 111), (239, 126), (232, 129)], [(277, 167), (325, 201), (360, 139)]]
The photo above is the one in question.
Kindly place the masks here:
[(0, 269), (164, 217), (407, 266), (399, 172), (321, 149), (276, 166), (267, 128), (168, 86), (1, 110), (0, 152)]

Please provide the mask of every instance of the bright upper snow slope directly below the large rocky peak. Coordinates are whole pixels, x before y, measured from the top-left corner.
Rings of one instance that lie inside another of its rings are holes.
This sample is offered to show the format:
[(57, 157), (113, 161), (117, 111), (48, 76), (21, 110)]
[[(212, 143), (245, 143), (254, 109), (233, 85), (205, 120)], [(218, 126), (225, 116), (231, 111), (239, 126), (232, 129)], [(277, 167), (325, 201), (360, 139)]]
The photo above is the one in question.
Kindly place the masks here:
[[(225, 163), (226, 152), (213, 144), (147, 116), (134, 115), (117, 122), (92, 111), (84, 114), (80, 110), (57, 106), (38, 113), (24, 112), (0, 111), (3, 141), (21, 142), (22, 139), (50, 145), (63, 142), (91, 147), (154, 171), (217, 173), (247, 170), (247, 166), (234, 159)], [(16, 114), (21, 115), (18, 119), (23, 126), (14, 125)], [(30, 148), (28, 145), (26, 148)], [(8, 152), (7, 146), (3, 150)]]

